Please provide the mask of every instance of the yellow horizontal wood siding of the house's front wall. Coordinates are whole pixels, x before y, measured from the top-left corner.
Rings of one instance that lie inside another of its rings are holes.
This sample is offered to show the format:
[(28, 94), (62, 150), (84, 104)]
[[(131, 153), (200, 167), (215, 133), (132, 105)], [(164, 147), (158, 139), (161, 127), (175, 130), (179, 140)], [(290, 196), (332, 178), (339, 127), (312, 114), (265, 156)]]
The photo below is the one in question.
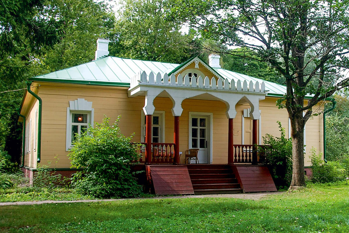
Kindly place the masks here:
[[(205, 72), (204, 72), (205, 73)], [(50, 167), (70, 167), (70, 160), (66, 148), (66, 121), (69, 101), (83, 98), (92, 101), (94, 108), (94, 121), (102, 122), (104, 115), (111, 118), (111, 123), (121, 115), (119, 123), (121, 132), (126, 136), (135, 133), (133, 141), (141, 140), (141, 111), (144, 106), (144, 96), (128, 97), (127, 88), (92, 86), (92, 85), (66, 85), (62, 83), (40, 83), (39, 96), (43, 100), (42, 121), (42, 164)], [(261, 134), (280, 136), (277, 121), (281, 121), (288, 136), (288, 114), (286, 109), (276, 107), (277, 98), (266, 97), (260, 101), (262, 127)], [(156, 111), (165, 112), (165, 140), (173, 142), (173, 116), (171, 113), (172, 101), (168, 97), (156, 97), (154, 100)], [(185, 152), (189, 148), (189, 112), (211, 112), (213, 114), (213, 163), (228, 162), (228, 119), (225, 115), (226, 105), (221, 101), (187, 99), (182, 103), (183, 113), (179, 117), (179, 151)], [(233, 123), (234, 144), (242, 143), (242, 114), (243, 109), (250, 108), (248, 104), (237, 104), (237, 115)], [(321, 111), (323, 107), (317, 105), (314, 111)], [(262, 144), (263, 142), (261, 142)], [(317, 152), (322, 148), (322, 114), (313, 117), (306, 123), (306, 156), (305, 166), (309, 166), (309, 154), (312, 147)], [(54, 157), (57, 156), (57, 163)], [(26, 158), (27, 160), (27, 158)], [(27, 161), (29, 161), (28, 158)], [(51, 164), (49, 162), (51, 161)], [(28, 166), (35, 166), (33, 160)], [(184, 162), (184, 156), (181, 158)], [(26, 164), (27, 165), (27, 164)]]

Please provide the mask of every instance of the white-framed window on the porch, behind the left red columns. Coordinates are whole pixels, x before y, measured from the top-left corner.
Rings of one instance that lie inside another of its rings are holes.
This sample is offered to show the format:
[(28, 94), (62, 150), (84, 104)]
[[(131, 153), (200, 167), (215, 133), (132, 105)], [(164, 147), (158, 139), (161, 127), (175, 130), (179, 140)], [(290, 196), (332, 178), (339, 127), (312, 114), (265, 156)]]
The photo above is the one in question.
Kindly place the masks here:
[[(141, 142), (146, 141), (146, 124), (147, 119), (142, 111), (142, 132)], [(155, 111), (152, 115), (152, 127), (151, 127), (151, 142), (152, 143), (163, 143), (165, 140), (164, 124), (165, 124), (165, 112)]]

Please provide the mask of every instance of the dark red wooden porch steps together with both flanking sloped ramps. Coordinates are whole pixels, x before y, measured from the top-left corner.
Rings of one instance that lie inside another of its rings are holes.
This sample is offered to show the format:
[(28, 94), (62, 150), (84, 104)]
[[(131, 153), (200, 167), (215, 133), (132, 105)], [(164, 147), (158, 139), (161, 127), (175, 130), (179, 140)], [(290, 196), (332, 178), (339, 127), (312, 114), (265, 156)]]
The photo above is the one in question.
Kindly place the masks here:
[(227, 164), (136, 165), (157, 195), (277, 191), (266, 166)]

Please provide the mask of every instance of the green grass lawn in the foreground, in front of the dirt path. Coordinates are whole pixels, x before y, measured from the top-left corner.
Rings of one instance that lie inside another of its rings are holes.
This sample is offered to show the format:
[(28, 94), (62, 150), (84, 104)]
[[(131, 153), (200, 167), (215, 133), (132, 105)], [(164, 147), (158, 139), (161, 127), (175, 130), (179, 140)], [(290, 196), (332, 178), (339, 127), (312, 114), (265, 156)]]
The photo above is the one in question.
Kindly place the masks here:
[(138, 199), (0, 206), (1, 232), (349, 232), (349, 185), (314, 185), (259, 201)]

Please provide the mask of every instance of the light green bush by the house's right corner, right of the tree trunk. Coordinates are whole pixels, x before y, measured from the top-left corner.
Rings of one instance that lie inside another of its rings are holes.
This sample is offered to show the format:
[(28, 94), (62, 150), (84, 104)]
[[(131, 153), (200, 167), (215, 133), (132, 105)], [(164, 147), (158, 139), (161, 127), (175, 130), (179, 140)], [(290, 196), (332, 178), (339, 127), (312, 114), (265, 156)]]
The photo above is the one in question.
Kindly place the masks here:
[(348, 161), (341, 164), (339, 161), (328, 161), (325, 163), (321, 159), (321, 155), (317, 155), (314, 148), (311, 150), (311, 165), (312, 165), (312, 182), (314, 183), (328, 183), (339, 182), (346, 179), (348, 174)]

